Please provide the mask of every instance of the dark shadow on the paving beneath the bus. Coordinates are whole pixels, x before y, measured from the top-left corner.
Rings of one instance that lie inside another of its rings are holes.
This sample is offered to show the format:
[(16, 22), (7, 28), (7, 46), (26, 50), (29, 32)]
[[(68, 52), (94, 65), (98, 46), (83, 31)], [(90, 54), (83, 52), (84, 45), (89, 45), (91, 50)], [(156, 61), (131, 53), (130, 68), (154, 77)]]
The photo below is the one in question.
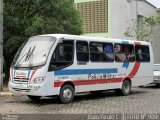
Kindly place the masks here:
[[(132, 93), (127, 97), (132, 97), (137, 94), (145, 94), (147, 91), (139, 91), (133, 90)], [(27, 97), (27, 96), (26, 96)], [(89, 100), (100, 100), (105, 98), (117, 98), (117, 97), (125, 97), (121, 95), (117, 95), (114, 90), (104, 91), (102, 93), (80, 93), (77, 94), (74, 98), (74, 101), (70, 104), (79, 103), (81, 101), (89, 101)], [(62, 104), (60, 103), (58, 97), (42, 97), (39, 101), (32, 101), (29, 98), (21, 101), (21, 103), (27, 104), (36, 104), (36, 105), (47, 105), (47, 104)]]

